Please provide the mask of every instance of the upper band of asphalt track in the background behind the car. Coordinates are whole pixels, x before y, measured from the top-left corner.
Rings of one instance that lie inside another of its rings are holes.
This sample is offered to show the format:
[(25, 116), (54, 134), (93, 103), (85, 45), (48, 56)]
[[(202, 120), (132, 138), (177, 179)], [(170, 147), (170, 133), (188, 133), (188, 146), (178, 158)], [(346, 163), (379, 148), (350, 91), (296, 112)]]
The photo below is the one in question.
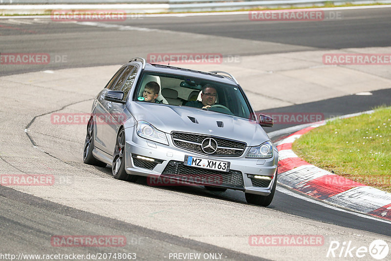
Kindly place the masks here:
[[(0, 76), (43, 69), (119, 65), (131, 57), (147, 57), (149, 53), (206, 52), (248, 56), (390, 45), (390, 8), (325, 11), (326, 17), (331, 17), (329, 12), (340, 19), (266, 22), (251, 21), (247, 13), (227, 16), (135, 16), (123, 22), (103, 22), (107, 24), (103, 27), (94, 25), (94, 22), (53, 22), (50, 18), (40, 17), (15, 22), (11, 18), (11, 22), (0, 23), (0, 51), (49, 53), (52, 61), (49, 65), (3, 65)], [(110, 27), (110, 24), (117, 27)], [(156, 39), (153, 34), (156, 29), (189, 34), (168, 34), (167, 39)], [(142, 38), (134, 33), (143, 30), (152, 30), (152, 33)], [(207, 40), (199, 37), (201, 35), (221, 39), (205, 42)], [(224, 44), (225, 37), (254, 42), (246, 46), (227, 45)], [(172, 48), (171, 42), (175, 43), (175, 48)], [(66, 60), (60, 59), (64, 56)]]

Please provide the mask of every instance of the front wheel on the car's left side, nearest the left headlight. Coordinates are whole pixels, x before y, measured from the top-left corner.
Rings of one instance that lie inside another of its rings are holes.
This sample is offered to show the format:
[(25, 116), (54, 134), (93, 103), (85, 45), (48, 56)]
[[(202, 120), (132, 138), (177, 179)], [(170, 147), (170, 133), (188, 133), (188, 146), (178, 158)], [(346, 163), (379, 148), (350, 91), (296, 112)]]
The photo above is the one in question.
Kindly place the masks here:
[(119, 180), (137, 181), (138, 176), (130, 175), (125, 171), (125, 130), (120, 129), (117, 135), (117, 140), (115, 141), (114, 153), (113, 153), (113, 163), (111, 164), (111, 171), (113, 177)]

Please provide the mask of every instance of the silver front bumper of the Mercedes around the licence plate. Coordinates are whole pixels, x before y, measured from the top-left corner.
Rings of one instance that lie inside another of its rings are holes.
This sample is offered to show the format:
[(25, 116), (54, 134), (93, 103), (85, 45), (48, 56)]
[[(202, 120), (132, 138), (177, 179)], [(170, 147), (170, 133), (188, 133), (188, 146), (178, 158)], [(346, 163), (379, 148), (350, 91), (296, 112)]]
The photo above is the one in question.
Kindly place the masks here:
[[(139, 137), (133, 128), (126, 131), (129, 139), (126, 140), (125, 170), (128, 174), (147, 176), (151, 185), (207, 185), (267, 196), (276, 182), (277, 151), (268, 159), (245, 158), (249, 147), (240, 157), (211, 157), (175, 147), (170, 134), (166, 134), (167, 146)], [(185, 166), (185, 155), (229, 161), (230, 172)], [(159, 182), (159, 177), (174, 182)]]

